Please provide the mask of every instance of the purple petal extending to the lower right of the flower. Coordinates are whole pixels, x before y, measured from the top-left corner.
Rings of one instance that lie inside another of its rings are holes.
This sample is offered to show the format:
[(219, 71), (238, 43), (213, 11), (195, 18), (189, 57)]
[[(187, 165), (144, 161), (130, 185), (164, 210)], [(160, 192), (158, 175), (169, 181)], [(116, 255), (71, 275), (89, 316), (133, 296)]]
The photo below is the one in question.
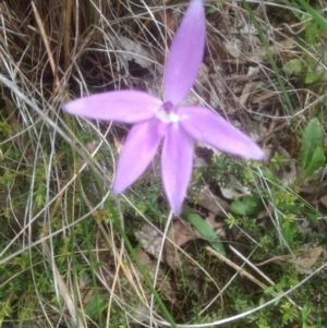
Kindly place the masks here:
[(264, 159), (264, 151), (243, 132), (203, 107), (179, 108), (180, 124), (199, 142), (245, 158)]

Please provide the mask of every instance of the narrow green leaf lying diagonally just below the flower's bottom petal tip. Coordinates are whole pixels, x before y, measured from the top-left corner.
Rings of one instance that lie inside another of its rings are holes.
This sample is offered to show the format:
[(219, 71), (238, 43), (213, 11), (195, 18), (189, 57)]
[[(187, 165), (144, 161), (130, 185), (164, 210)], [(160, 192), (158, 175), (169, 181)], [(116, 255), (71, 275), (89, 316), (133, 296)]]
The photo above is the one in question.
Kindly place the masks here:
[(218, 235), (199, 215), (186, 207), (183, 208), (182, 214), (186, 217), (189, 222), (199, 232), (199, 234), (211, 244), (213, 248), (215, 248), (221, 255), (226, 255), (223, 245)]

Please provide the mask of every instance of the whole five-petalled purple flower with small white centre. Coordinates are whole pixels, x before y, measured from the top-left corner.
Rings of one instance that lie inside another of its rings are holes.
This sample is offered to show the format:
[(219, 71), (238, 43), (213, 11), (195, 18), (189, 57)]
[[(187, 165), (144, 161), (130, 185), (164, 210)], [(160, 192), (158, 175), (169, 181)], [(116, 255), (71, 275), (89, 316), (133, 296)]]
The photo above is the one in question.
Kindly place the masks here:
[(217, 113), (204, 107), (178, 107), (195, 81), (204, 47), (203, 2), (192, 0), (170, 47), (165, 101), (144, 92), (119, 90), (63, 106), (70, 113), (90, 119), (135, 123), (120, 154), (113, 194), (121, 193), (140, 178), (162, 139), (162, 180), (174, 214), (181, 210), (191, 179), (194, 141), (245, 158), (264, 159), (264, 153), (254, 142)]

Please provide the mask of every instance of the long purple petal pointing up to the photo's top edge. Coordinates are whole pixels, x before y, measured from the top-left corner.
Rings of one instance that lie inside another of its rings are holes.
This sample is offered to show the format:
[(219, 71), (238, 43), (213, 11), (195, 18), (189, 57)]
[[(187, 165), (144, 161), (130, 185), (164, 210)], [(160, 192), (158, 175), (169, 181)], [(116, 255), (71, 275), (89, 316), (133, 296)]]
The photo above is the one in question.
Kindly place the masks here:
[(172, 40), (165, 72), (166, 100), (181, 102), (189, 94), (203, 60), (205, 11), (202, 0), (192, 0)]

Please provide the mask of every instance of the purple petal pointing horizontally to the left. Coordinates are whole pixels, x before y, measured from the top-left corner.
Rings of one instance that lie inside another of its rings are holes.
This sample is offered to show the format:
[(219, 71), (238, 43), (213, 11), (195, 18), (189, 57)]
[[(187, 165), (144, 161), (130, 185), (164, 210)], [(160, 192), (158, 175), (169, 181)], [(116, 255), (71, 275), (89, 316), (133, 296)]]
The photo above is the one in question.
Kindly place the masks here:
[(161, 105), (160, 99), (147, 93), (121, 90), (78, 98), (62, 108), (89, 119), (136, 123), (152, 119)]

